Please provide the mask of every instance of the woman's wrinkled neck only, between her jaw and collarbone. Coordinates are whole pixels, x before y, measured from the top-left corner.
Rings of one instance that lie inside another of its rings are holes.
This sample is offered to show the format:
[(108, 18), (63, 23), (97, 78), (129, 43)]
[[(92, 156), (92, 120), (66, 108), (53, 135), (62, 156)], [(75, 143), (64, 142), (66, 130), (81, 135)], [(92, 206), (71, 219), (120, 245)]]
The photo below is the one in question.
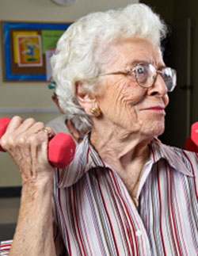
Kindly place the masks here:
[(117, 126), (111, 129), (105, 126), (93, 127), (90, 142), (102, 159), (116, 159), (125, 166), (135, 159), (142, 159), (144, 162), (150, 139), (143, 139), (138, 133), (131, 133)]

